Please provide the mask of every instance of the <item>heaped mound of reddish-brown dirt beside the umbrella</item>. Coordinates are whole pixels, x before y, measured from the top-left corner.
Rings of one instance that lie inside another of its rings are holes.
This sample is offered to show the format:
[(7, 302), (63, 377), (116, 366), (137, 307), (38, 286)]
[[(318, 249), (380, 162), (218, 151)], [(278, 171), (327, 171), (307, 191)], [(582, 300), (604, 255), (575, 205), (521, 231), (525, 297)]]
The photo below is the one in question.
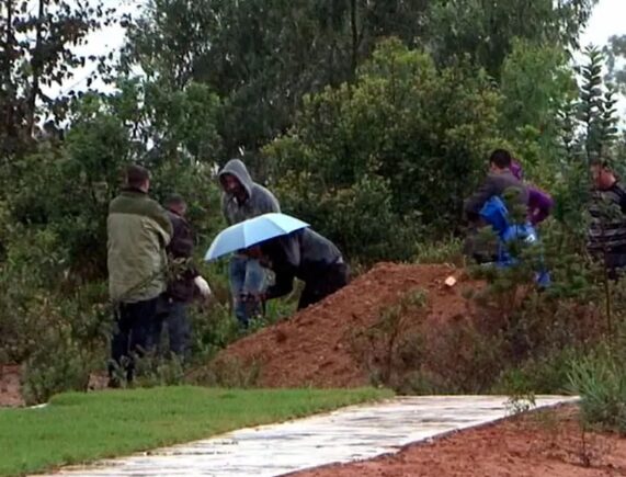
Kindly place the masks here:
[[(451, 275), (457, 280), (452, 287), (444, 283)], [(353, 350), (355, 333), (375, 327), (385, 310), (420, 289), (426, 297), (420, 320), (426, 325), (458, 320), (470, 307), (463, 297), (468, 285), (480, 287), (452, 266), (380, 263), (320, 304), (231, 344), (216, 363), (255, 362), (258, 384), (268, 387), (368, 385), (364, 360), (356, 359)]]

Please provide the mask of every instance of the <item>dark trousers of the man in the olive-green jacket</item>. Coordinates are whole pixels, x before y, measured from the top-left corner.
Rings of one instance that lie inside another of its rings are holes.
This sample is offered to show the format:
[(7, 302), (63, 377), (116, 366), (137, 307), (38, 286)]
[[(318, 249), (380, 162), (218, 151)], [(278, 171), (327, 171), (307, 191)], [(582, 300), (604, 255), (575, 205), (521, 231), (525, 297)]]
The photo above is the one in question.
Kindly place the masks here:
[(115, 368), (126, 373), (133, 381), (134, 355), (141, 356), (149, 348), (150, 330), (157, 314), (157, 298), (144, 302), (122, 303), (115, 310), (116, 329), (111, 340), (111, 364), (109, 376), (115, 378)]

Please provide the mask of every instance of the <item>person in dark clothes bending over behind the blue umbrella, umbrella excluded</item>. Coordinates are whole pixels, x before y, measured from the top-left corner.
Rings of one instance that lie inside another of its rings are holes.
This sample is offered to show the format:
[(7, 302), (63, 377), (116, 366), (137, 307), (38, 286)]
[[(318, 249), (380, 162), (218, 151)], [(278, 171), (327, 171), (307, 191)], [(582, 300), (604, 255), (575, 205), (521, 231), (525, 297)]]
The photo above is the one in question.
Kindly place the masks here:
[(263, 242), (250, 253), (257, 253), (261, 263), (274, 272), (275, 281), (265, 292), (265, 299), (291, 293), (294, 279), (305, 283), (298, 310), (332, 295), (350, 280), (349, 266), (335, 245), (310, 228)]

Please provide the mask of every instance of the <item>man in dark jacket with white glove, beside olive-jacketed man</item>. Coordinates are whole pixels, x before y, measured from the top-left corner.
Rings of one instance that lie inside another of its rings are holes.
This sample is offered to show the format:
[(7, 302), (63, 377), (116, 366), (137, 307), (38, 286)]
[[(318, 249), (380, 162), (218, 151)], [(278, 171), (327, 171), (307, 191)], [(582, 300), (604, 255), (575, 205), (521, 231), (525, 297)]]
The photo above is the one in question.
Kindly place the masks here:
[(152, 341), (155, 345), (159, 345), (164, 326), (168, 329), (170, 352), (184, 359), (191, 334), (187, 305), (193, 299), (196, 289), (205, 298), (208, 297), (210, 291), (191, 263), (194, 236), (185, 218), (185, 201), (174, 194), (166, 201), (164, 205), (173, 229), (172, 240), (166, 249), (170, 263), (170, 280), (167, 291), (159, 298)]

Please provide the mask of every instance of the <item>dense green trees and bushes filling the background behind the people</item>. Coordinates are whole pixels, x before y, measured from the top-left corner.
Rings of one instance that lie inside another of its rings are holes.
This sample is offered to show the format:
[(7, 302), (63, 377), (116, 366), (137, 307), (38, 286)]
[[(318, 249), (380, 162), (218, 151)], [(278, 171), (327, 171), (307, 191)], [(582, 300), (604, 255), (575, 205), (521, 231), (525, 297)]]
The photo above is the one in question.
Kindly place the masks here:
[[(189, 200), (198, 254), (224, 225), (215, 170), (242, 157), (285, 212), (367, 266), (446, 259), (463, 198), (508, 147), (557, 201), (544, 234), (559, 303), (611, 299), (584, 254), (587, 163), (623, 166), (626, 37), (579, 44), (594, 3), (149, 0), (119, 20), (2, 0), (0, 363), (26, 364), (31, 400), (102, 368), (106, 208), (132, 161), (157, 198)], [(73, 53), (112, 21), (119, 59)], [(44, 94), (86, 61), (115, 92)], [(221, 272), (205, 270), (217, 300), (194, 318), (198, 361), (234, 336)]]

